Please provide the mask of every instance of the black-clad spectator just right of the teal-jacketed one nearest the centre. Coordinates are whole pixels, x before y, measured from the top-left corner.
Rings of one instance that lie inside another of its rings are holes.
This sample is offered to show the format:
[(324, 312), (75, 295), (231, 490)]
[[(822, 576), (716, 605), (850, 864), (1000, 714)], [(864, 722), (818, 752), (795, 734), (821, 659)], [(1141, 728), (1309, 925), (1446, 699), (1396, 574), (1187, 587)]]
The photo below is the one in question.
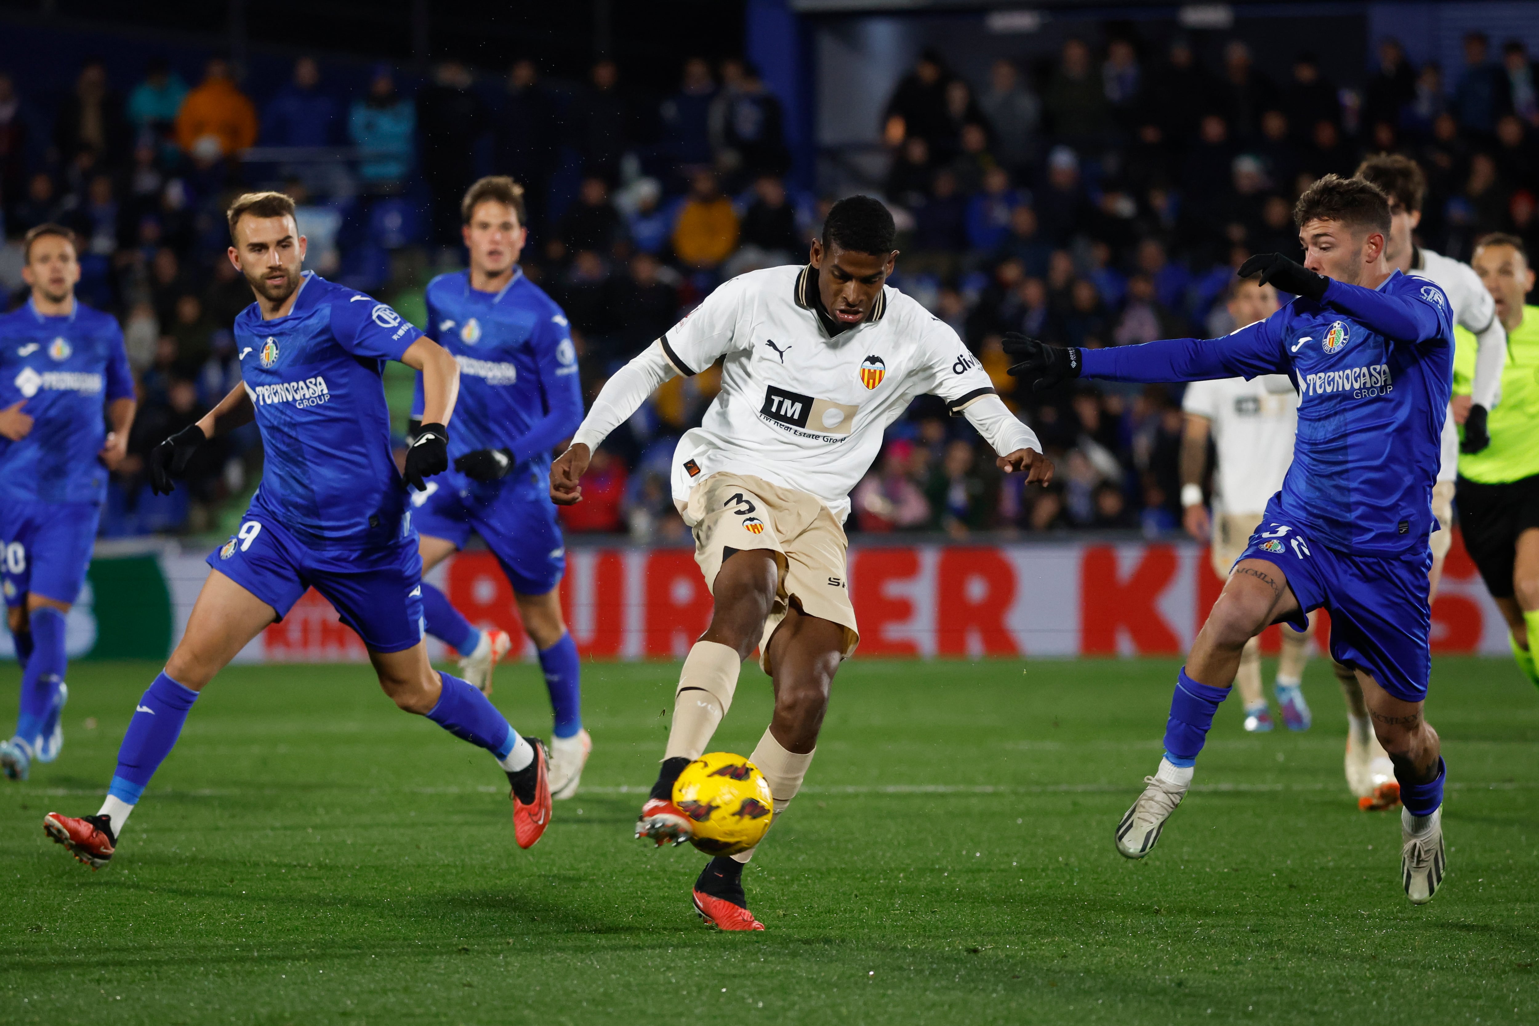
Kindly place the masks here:
[(486, 131), (486, 105), (469, 69), (440, 63), (417, 94), (422, 174), (432, 189), (432, 234), (440, 246), (460, 245), (460, 197), (476, 177), (476, 142)]

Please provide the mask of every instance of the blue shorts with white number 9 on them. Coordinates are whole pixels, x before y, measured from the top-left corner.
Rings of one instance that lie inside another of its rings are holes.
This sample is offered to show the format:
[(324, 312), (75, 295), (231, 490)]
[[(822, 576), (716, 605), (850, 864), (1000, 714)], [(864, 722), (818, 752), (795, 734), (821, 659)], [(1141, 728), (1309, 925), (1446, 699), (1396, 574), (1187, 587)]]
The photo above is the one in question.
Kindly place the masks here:
[(371, 652), (400, 652), (422, 641), (422, 557), (416, 535), (362, 551), (314, 549), (262, 511), (249, 509), (208, 565), (272, 606), (279, 620), (314, 588)]

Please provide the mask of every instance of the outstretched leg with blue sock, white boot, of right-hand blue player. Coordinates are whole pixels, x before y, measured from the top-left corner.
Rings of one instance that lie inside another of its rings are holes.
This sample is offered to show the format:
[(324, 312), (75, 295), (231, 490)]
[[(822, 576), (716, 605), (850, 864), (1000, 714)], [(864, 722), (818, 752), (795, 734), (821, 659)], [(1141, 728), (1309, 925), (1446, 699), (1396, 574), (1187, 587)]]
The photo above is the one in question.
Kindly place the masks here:
[(1159, 769), (1143, 778), (1143, 794), (1117, 823), (1114, 840), (1122, 855), (1142, 858), (1159, 841), (1165, 820), (1187, 795), (1197, 754), (1219, 703), (1230, 694), (1245, 645), (1285, 618), (1302, 618), (1302, 609), (1282, 566), (1262, 558), (1236, 563), (1176, 677)]

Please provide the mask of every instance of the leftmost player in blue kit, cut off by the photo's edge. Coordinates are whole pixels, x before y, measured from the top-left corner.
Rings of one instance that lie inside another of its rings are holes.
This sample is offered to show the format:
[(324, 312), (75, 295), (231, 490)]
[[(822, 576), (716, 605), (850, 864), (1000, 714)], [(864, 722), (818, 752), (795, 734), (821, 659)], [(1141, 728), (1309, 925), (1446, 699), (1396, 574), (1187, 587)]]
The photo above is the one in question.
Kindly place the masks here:
[(74, 235), (38, 225), (22, 245), (32, 294), (0, 317), (0, 586), (22, 663), (15, 735), (0, 741), (11, 780), (26, 780), (32, 760), (52, 761), (63, 746), (65, 617), (91, 563), (108, 471), (134, 423), (123, 332), (75, 300)]

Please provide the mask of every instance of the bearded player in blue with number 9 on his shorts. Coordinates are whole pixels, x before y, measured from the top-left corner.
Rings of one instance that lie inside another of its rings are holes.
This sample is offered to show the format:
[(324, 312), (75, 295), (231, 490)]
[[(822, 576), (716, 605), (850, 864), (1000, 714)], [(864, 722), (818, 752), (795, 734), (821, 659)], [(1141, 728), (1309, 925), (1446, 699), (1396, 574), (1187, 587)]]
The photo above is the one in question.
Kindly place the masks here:
[[(208, 557), (214, 572), (165, 672), (134, 709), (102, 811), (49, 812), (43, 829), (80, 861), (105, 866), (203, 686), (315, 588), (363, 638), (397, 706), (496, 757), (512, 788), (516, 840), (528, 848), (551, 814), (543, 746), (508, 726), (480, 691), (436, 672), (422, 640), (422, 560), (406, 485), (420, 491), (425, 477), (448, 469), (445, 425), (459, 368), (389, 306), (300, 272), (305, 238), (289, 197), (242, 195), (229, 208), (229, 260), (257, 297), (235, 318), (242, 385), (160, 443), (149, 472), (169, 491), (200, 445), (255, 418), (262, 485), (240, 529)], [(406, 483), (391, 454), (385, 360), (420, 371), (425, 383), (429, 423), (406, 452)]]

